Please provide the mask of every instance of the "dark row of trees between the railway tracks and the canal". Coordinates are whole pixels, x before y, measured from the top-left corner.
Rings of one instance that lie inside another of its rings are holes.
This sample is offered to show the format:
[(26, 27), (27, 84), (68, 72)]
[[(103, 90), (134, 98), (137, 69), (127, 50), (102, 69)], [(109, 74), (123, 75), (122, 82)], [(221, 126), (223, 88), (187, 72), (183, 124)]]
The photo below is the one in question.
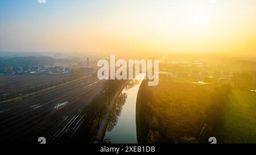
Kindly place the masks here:
[(86, 115), (85, 120), (77, 132), (75, 141), (93, 143), (102, 119), (104, 119), (106, 112), (109, 112), (110, 102), (115, 94), (119, 93), (127, 82), (127, 80), (117, 79), (104, 81), (100, 93), (96, 94), (83, 110)]

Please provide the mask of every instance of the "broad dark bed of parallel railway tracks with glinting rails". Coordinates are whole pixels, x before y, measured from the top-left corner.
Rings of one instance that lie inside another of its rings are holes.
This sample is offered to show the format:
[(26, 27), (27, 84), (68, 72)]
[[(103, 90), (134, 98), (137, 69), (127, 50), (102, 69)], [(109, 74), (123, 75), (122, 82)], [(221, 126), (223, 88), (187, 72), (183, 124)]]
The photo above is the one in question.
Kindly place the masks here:
[(101, 86), (97, 77), (88, 77), (11, 104), (1, 104), (0, 143), (37, 143), (38, 137), (56, 143), (63, 135), (75, 135), (88, 119), (82, 110), (101, 91)]

